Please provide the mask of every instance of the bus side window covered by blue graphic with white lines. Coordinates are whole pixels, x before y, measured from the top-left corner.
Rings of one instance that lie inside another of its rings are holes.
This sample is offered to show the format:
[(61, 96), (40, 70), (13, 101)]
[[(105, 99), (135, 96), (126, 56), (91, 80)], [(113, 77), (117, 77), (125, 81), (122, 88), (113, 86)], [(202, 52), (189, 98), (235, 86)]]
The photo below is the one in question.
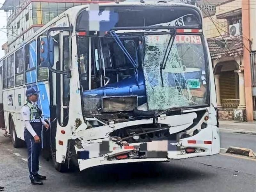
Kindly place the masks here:
[(25, 45), (25, 84), (36, 82), (36, 41)]

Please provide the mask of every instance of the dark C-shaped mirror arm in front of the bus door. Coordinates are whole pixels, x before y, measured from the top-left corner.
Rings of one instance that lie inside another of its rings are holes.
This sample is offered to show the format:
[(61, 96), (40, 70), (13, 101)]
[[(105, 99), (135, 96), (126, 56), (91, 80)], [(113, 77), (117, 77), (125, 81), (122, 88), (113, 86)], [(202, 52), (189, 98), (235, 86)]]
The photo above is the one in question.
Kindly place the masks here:
[(48, 65), (49, 70), (52, 71), (53, 73), (60, 73), (62, 75), (66, 75), (67, 77), (70, 78), (71, 77), (70, 72), (53, 69), (52, 65), (50, 63), (50, 51), (49, 51), (50, 50), (50, 41), (49, 41), (49, 36), (51, 36), (50, 33), (52, 31), (73, 31), (73, 27), (53, 27), (53, 28), (48, 29), (47, 35), (46, 35), (47, 36), (47, 60), (48, 60), (47, 65)]

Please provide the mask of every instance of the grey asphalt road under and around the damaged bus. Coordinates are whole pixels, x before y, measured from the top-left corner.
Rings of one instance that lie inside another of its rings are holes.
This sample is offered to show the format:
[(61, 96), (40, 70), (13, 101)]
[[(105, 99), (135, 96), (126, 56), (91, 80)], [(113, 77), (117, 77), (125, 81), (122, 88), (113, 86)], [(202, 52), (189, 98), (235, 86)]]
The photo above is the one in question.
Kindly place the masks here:
[[(46, 175), (47, 180), (42, 186), (33, 186), (28, 179), (27, 149), (12, 148), (10, 139), (2, 135), (0, 131), (0, 186), (5, 186), (8, 192), (255, 191), (255, 160), (227, 154), (168, 163), (116, 164), (68, 173), (55, 171), (51, 161), (42, 159), (40, 173)], [(234, 143), (237, 138), (239, 140)], [(244, 134), (221, 132), (221, 147), (227, 148), (229, 143), (246, 144), (248, 138)], [(251, 141), (255, 145), (255, 136)]]

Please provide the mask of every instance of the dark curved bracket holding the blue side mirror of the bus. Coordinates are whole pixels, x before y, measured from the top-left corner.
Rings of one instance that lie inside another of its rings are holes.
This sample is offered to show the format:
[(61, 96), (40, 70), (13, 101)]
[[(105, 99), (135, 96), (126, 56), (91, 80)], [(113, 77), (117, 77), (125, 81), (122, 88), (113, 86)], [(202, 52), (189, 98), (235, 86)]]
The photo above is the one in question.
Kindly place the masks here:
[[(54, 45), (53, 45), (53, 37), (50, 35), (52, 31), (73, 31), (73, 27), (53, 27), (50, 28), (47, 31), (47, 65), (50, 71), (52, 71), (53, 73), (59, 73), (62, 75), (66, 75), (67, 77), (71, 77), (70, 72), (68, 71), (61, 71), (61, 70), (57, 70), (57, 69), (53, 69), (53, 54), (54, 54)], [(50, 47), (51, 45), (51, 47)]]

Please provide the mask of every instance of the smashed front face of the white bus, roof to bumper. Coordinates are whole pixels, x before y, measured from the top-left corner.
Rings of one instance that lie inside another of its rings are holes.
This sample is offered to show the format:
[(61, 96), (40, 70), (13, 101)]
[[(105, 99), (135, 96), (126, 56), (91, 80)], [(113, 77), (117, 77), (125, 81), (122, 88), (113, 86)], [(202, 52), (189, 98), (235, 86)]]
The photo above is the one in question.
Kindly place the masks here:
[(76, 44), (84, 119), (71, 138), (80, 170), (219, 153), (213, 72), (196, 7), (93, 4), (76, 18)]

